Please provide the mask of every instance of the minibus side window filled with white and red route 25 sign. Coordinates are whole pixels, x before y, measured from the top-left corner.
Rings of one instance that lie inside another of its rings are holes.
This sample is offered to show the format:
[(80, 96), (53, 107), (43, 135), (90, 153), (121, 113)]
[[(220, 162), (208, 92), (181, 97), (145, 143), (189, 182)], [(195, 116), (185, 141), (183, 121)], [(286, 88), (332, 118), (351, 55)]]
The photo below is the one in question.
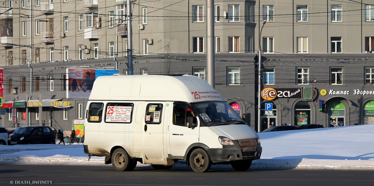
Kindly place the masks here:
[(131, 123), (133, 103), (108, 103), (105, 108), (105, 123)]

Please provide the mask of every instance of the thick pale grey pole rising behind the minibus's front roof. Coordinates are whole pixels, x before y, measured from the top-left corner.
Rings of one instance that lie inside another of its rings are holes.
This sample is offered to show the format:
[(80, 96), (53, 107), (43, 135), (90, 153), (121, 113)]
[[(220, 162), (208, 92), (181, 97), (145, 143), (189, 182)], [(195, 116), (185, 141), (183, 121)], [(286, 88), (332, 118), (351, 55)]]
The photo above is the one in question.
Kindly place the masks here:
[(206, 1), (207, 82), (214, 88), (214, 0)]

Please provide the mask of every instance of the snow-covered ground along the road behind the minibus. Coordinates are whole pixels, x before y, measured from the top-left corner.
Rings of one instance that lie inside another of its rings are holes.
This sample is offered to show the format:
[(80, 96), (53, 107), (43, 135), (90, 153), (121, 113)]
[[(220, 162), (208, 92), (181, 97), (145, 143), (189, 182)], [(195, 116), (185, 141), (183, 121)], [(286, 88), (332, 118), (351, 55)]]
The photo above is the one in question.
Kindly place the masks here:
[[(259, 133), (263, 153), (251, 168), (374, 170), (374, 124)], [(0, 145), (0, 164), (104, 165), (82, 144)], [(111, 165), (105, 165), (111, 166)], [(138, 166), (149, 166), (138, 163)], [(186, 166), (178, 161), (175, 166)], [(230, 165), (213, 165), (212, 167)]]

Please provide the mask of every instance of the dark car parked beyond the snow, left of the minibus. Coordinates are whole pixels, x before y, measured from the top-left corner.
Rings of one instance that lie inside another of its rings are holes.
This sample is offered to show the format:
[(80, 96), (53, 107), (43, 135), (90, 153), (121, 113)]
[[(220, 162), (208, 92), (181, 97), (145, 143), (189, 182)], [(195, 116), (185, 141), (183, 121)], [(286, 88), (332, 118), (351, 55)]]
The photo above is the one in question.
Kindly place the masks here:
[(55, 134), (49, 127), (23, 127), (9, 137), (8, 145), (16, 144), (56, 144)]

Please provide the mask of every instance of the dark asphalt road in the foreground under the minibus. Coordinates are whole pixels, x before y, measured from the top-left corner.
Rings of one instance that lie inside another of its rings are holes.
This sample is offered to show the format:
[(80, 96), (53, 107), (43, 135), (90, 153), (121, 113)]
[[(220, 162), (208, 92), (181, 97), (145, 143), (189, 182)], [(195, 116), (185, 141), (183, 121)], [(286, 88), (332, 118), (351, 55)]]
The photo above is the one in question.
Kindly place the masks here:
[[(51, 183), (52, 182), (52, 183)], [(249, 170), (211, 168), (195, 173), (190, 167), (154, 170), (151, 166), (119, 172), (111, 166), (0, 165), (0, 185), (68, 186), (368, 186), (373, 171)]]

